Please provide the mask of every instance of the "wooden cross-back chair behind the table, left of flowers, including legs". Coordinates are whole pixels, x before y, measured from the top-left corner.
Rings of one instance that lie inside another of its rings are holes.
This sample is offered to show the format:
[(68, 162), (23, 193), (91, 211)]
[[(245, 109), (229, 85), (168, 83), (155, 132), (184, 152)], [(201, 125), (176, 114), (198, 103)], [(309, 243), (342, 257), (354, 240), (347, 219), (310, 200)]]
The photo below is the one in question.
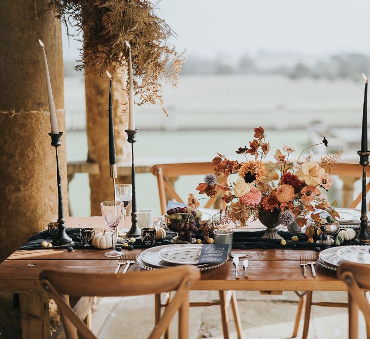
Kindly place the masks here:
[[(166, 195), (165, 193), (169, 193), (169, 195), (178, 202), (183, 202), (183, 200), (179, 197), (176, 193), (175, 188), (173, 187), (172, 183), (170, 182), (171, 177), (178, 177), (182, 175), (206, 175), (208, 173), (213, 173), (213, 167), (211, 163), (202, 162), (202, 163), (178, 163), (178, 164), (161, 164), (161, 165), (154, 165), (151, 169), (153, 175), (157, 177), (158, 182), (158, 192), (159, 192), (159, 201), (162, 214), (166, 212)], [(222, 178), (222, 182), (227, 182), (227, 177)], [(196, 186), (194, 186), (195, 189)], [(189, 190), (191, 192), (192, 190)], [(217, 195), (224, 195), (227, 192), (222, 190), (217, 190)], [(209, 199), (207, 204), (205, 205), (206, 208), (211, 207), (212, 203), (215, 201), (215, 198)], [(222, 201), (223, 207), (225, 207), (224, 201)], [(171, 297), (171, 296), (170, 296)], [(167, 299), (168, 300), (168, 299)], [(238, 338), (242, 338), (242, 323), (240, 320), (239, 309), (238, 309), (238, 302), (237, 297), (234, 291), (219, 291), (219, 300), (217, 301), (205, 301), (205, 302), (191, 302), (190, 307), (196, 306), (213, 306), (219, 305), (221, 309), (221, 321), (222, 321), (222, 330), (224, 339), (229, 338), (229, 328), (228, 328), (228, 315), (227, 309), (228, 306), (231, 305), (232, 314), (234, 317), (235, 327), (237, 329)], [(158, 299), (157, 302), (157, 309), (166, 306), (166, 301), (160, 302)], [(169, 330), (167, 330), (164, 334), (164, 338), (169, 338)]]

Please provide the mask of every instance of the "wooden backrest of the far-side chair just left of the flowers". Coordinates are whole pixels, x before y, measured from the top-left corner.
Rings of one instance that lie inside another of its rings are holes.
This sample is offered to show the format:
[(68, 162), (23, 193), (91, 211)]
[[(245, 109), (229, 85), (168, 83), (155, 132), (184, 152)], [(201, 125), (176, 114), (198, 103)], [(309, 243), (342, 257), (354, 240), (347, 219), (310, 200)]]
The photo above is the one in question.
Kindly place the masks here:
[[(159, 192), (159, 202), (162, 214), (166, 212), (166, 193), (175, 199), (177, 202), (184, 202), (180, 196), (177, 194), (173, 184), (169, 178), (183, 176), (183, 175), (206, 175), (208, 173), (213, 173), (213, 167), (211, 163), (178, 163), (178, 164), (161, 164), (154, 165), (151, 169), (152, 174), (157, 177), (158, 182), (158, 192)], [(227, 177), (223, 177), (222, 182), (227, 182)], [(196, 186), (192, 188), (189, 192), (194, 191)], [(217, 196), (225, 195), (227, 192), (221, 189), (216, 189)], [(210, 198), (205, 207), (209, 208), (216, 201), (217, 198)], [(186, 201), (185, 201), (186, 202)], [(225, 202), (222, 201), (223, 207), (226, 206)]]

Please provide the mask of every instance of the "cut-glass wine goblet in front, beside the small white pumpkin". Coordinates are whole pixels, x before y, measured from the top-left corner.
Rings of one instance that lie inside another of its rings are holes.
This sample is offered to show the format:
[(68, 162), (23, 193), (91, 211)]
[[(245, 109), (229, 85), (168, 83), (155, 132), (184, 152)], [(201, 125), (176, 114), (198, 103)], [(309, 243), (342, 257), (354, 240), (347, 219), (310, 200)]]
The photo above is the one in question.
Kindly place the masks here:
[(113, 249), (110, 252), (105, 253), (106, 257), (116, 258), (120, 257), (122, 253), (116, 251), (116, 228), (122, 219), (123, 215), (123, 203), (122, 201), (104, 201), (100, 203), (100, 209), (107, 226), (112, 230), (112, 244)]

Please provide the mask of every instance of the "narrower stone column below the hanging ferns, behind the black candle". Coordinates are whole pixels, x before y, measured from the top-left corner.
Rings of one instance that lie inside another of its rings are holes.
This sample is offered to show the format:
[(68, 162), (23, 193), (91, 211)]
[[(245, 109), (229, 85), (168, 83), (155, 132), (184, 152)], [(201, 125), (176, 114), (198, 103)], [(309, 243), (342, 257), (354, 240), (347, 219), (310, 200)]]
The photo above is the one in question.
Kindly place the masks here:
[[(117, 164), (129, 161), (130, 144), (127, 142), (128, 121), (124, 112), (127, 109), (126, 72), (123, 69), (112, 74), (112, 108), (114, 136), (116, 145)], [(109, 172), (109, 144), (108, 144), (108, 77), (96, 74), (91, 66), (86, 66), (85, 76), (86, 93), (86, 132), (88, 142), (88, 160), (99, 165), (99, 174), (89, 175), (91, 215), (101, 215), (100, 202), (114, 199), (113, 180)]]

